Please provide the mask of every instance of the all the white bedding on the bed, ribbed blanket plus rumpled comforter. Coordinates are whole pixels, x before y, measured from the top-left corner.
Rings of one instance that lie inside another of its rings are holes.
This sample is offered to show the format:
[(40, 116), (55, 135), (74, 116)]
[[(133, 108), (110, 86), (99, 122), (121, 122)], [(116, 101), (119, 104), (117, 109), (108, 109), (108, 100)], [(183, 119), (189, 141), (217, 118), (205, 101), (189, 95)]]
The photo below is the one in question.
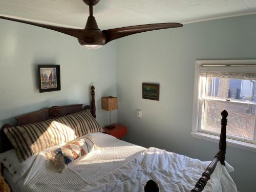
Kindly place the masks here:
[[(157, 148), (146, 150), (102, 133), (90, 135), (95, 149), (61, 174), (45, 156), (59, 146), (38, 154), (22, 191), (144, 191), (150, 179), (159, 184), (160, 191), (190, 191), (209, 164)], [(204, 191), (237, 189), (226, 168), (218, 164)]]

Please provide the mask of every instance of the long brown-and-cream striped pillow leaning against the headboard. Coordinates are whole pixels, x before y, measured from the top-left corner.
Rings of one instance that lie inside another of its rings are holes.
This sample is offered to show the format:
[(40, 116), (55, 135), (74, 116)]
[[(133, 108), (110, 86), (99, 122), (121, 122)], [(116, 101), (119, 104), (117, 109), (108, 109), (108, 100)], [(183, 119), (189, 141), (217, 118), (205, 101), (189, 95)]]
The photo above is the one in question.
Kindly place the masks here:
[(103, 132), (89, 110), (72, 113), (41, 122), (7, 127), (4, 132), (20, 162), (45, 148), (72, 141), (93, 132)]

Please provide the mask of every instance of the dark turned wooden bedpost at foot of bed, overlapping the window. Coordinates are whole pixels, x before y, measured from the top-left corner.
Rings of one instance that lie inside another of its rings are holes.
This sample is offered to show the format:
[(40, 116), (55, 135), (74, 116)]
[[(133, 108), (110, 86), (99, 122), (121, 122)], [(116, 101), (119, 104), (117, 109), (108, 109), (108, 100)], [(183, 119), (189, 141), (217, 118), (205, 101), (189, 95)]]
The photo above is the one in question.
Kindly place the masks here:
[(214, 160), (210, 162), (207, 166), (205, 172), (202, 174), (202, 177), (198, 180), (195, 185), (195, 188), (191, 190), (191, 192), (201, 192), (207, 181), (210, 179), (210, 175), (214, 173), (214, 169), (217, 166), (218, 161), (221, 162), (222, 165), (225, 166), (225, 154), (226, 154), (226, 127), (227, 127), (227, 116), (228, 113), (226, 110), (221, 112), (221, 135), (219, 141), (219, 152), (215, 155)]

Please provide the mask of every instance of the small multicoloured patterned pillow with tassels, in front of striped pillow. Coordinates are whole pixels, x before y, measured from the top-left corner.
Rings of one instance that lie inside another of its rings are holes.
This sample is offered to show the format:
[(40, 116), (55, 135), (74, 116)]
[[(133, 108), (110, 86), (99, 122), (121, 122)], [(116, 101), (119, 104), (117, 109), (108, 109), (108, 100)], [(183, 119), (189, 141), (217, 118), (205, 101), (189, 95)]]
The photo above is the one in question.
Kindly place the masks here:
[(57, 148), (46, 156), (57, 168), (57, 171), (61, 173), (68, 165), (85, 157), (92, 150), (93, 146), (92, 140), (86, 136)]

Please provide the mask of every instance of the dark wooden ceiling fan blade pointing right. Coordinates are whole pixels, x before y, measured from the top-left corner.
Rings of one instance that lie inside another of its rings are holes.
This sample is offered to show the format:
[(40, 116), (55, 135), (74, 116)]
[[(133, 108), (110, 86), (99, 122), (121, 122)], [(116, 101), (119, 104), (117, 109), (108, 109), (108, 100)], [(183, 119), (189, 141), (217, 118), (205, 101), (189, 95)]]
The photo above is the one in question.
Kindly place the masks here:
[(137, 25), (130, 27), (121, 27), (116, 29), (103, 30), (102, 32), (106, 35), (106, 43), (115, 40), (127, 35), (133, 35), (136, 33), (153, 31), (159, 29), (168, 29), (182, 27), (182, 24), (179, 23), (163, 23), (163, 24), (148, 24), (148, 25)]

